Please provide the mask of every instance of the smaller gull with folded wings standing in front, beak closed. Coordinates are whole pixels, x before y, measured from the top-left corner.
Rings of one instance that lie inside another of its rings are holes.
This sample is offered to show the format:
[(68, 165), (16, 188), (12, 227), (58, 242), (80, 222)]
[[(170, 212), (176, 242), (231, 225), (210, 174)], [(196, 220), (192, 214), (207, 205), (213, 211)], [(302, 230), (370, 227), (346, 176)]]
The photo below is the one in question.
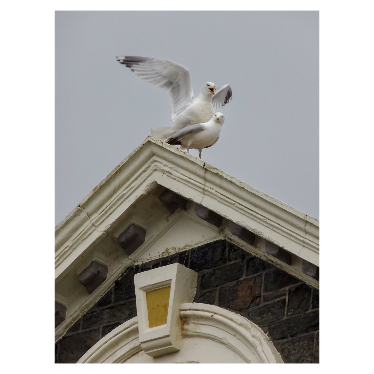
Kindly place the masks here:
[(187, 148), (188, 154), (191, 148), (198, 149), (201, 159), (201, 151), (203, 148), (211, 147), (220, 137), (220, 131), (224, 120), (225, 116), (223, 113), (215, 113), (208, 122), (188, 125), (178, 130), (165, 141), (173, 145), (181, 144), (181, 149)]

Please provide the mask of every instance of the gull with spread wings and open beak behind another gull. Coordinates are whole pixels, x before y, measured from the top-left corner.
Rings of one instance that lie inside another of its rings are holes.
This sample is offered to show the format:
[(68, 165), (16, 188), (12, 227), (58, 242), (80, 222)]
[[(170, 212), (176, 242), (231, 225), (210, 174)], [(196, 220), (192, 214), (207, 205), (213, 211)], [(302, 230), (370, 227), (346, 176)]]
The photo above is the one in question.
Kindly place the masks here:
[(172, 125), (151, 129), (151, 134), (160, 140), (165, 140), (185, 126), (209, 121), (215, 112), (214, 107), (223, 107), (232, 97), (229, 85), (216, 89), (214, 83), (207, 82), (195, 98), (190, 72), (173, 61), (138, 56), (117, 56), (117, 61), (130, 68), (138, 77), (169, 93)]

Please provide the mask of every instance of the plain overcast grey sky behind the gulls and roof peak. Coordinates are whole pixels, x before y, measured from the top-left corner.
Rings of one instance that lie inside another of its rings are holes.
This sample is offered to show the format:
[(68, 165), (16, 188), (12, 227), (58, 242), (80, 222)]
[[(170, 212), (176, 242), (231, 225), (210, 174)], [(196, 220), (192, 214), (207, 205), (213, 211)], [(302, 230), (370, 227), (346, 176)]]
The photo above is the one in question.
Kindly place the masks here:
[[(230, 84), (204, 161), (319, 218), (319, 13), (55, 13), (55, 222), (134, 148), (170, 123), (168, 95), (117, 55), (169, 59)], [(198, 157), (198, 151), (191, 151)]]

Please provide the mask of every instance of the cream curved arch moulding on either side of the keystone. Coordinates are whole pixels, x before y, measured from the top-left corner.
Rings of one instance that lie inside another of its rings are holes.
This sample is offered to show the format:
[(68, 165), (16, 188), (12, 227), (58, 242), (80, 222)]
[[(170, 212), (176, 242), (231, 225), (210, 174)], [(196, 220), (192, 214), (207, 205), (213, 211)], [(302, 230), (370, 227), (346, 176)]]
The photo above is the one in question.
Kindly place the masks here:
[[(236, 313), (200, 303), (181, 304), (180, 312), (183, 338), (204, 338), (215, 341), (226, 350), (230, 350), (241, 362), (283, 363), (269, 337), (253, 322)], [(203, 349), (200, 351), (200, 355), (203, 356)], [(143, 352), (139, 341), (138, 317), (134, 317), (105, 335), (82, 356), (78, 363), (126, 363), (127, 360), (141, 353)], [(167, 362), (173, 362), (174, 358), (174, 362), (181, 362), (183, 354), (182, 347), (180, 352), (156, 359), (144, 354), (141, 360), (160, 362), (167, 357)], [(199, 357), (194, 362), (199, 362)]]

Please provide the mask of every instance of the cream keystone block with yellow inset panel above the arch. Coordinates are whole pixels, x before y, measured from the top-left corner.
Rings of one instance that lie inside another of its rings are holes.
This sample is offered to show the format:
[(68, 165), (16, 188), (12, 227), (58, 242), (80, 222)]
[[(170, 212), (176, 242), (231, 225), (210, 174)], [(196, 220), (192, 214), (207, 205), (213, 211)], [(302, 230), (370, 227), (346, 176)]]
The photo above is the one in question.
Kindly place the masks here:
[(152, 357), (180, 350), (180, 305), (193, 301), (197, 273), (181, 264), (135, 274), (139, 340)]

